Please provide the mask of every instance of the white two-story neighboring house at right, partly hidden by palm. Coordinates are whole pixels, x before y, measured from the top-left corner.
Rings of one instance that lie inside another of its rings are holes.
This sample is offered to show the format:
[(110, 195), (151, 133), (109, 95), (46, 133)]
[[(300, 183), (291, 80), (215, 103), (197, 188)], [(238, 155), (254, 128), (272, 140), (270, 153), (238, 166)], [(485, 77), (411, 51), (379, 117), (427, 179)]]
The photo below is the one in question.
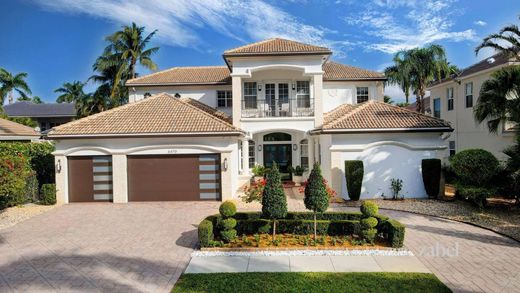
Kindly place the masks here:
[(465, 149), (481, 148), (499, 159), (507, 156), (502, 151), (514, 143), (513, 125), (501, 125), (497, 134), (490, 133), (487, 124), (479, 124), (473, 115), (482, 84), (491, 74), (504, 66), (518, 64), (505, 55), (497, 54), (482, 60), (458, 75), (430, 85), (430, 107), (435, 117), (450, 122), (454, 128), (449, 135), (449, 153), (454, 155)]

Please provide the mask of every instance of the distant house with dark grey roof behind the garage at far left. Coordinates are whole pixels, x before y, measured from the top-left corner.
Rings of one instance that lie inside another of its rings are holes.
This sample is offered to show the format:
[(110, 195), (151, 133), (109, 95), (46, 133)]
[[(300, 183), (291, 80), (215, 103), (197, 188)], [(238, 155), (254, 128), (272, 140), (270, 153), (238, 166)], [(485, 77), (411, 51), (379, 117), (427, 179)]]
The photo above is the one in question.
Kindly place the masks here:
[(16, 102), (5, 105), (4, 111), (9, 117), (26, 117), (38, 123), (41, 132), (55, 126), (70, 122), (76, 117), (74, 103)]

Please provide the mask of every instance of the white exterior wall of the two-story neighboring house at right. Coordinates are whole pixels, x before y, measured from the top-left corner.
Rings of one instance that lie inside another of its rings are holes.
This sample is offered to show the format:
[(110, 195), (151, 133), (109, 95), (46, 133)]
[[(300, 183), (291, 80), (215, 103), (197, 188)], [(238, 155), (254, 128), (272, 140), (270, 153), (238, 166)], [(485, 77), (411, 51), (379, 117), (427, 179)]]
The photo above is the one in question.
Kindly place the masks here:
[[(454, 141), (456, 152), (481, 148), (490, 151), (500, 160), (507, 158), (502, 151), (514, 143), (514, 132), (504, 131), (503, 126), (499, 126), (497, 134), (490, 133), (487, 124), (485, 122), (479, 124), (473, 116), (473, 109), (477, 104), (482, 84), (490, 78), (492, 72), (501, 67), (503, 66), (463, 77), (460, 79), (460, 84), (456, 81), (448, 81), (430, 89), (432, 112), (434, 111), (434, 100), (440, 98), (440, 118), (450, 122), (454, 129), (446, 138), (446, 144)], [(473, 107), (466, 107), (465, 85), (470, 82), (473, 83)], [(448, 111), (448, 88), (453, 88), (454, 95), (454, 109), (450, 111)], [(449, 156), (449, 151), (445, 153), (445, 156)]]

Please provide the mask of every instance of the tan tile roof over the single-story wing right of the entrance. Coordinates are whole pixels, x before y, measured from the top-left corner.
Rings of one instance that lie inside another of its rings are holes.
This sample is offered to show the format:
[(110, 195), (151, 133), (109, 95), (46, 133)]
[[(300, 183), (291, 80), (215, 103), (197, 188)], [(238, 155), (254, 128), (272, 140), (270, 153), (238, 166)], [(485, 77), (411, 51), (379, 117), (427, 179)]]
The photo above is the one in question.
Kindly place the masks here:
[(323, 127), (318, 130), (433, 131), (438, 128), (451, 131), (450, 125), (442, 119), (379, 101), (368, 101), (358, 105), (341, 105), (326, 113)]

